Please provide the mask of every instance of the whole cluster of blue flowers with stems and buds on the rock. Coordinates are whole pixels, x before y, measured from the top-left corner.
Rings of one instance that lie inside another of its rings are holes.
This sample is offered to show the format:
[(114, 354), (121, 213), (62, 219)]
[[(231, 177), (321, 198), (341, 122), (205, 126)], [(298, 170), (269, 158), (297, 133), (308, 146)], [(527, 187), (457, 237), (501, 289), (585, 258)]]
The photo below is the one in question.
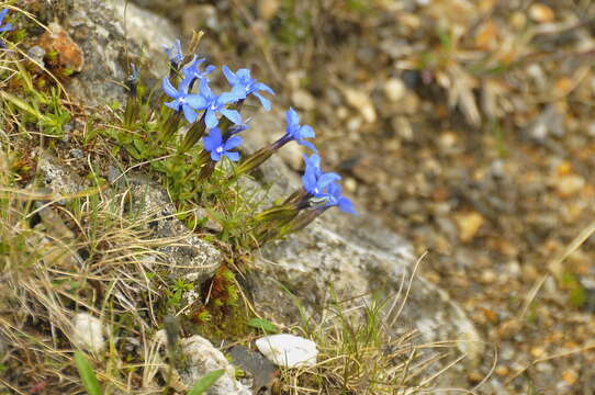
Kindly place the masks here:
[[(193, 159), (199, 181), (210, 179), (216, 165), (224, 158), (231, 162), (238, 162), (233, 166), (233, 176), (229, 177), (229, 180), (233, 180), (258, 168), (291, 142), (312, 151), (310, 157), (304, 155), (303, 187), (283, 203), (252, 217), (250, 224), (254, 225), (255, 235), (261, 241), (295, 232), (329, 207), (337, 206), (343, 212), (356, 213), (351, 202), (341, 194), (338, 184), (340, 177), (321, 169), (321, 157), (311, 142), (316, 135), (314, 129), (301, 124), (298, 112), (291, 108), (285, 113), (284, 134), (272, 144), (240, 160), (237, 148), (242, 145), (243, 138), (238, 134), (249, 128), (247, 122), (242, 119), (243, 104), (254, 97), (265, 110), (269, 111), (271, 102), (265, 94), (274, 94), (270, 87), (254, 79), (249, 69), (240, 68), (233, 71), (223, 66), (223, 75), (227, 79), (229, 90), (217, 93), (210, 80), (216, 69), (215, 66), (205, 67), (205, 58), (184, 55), (180, 41), (176, 41), (172, 47), (165, 50), (171, 70), (169, 76), (164, 77), (161, 89), (164, 105), (170, 111), (166, 111), (161, 117), (157, 143), (175, 139), (180, 122), (186, 120), (189, 126), (178, 146), (177, 158), (183, 160), (184, 153), (202, 139), (202, 150)], [(131, 92), (125, 117), (127, 127), (132, 127), (138, 116), (137, 80), (138, 71), (133, 67), (127, 81)]]

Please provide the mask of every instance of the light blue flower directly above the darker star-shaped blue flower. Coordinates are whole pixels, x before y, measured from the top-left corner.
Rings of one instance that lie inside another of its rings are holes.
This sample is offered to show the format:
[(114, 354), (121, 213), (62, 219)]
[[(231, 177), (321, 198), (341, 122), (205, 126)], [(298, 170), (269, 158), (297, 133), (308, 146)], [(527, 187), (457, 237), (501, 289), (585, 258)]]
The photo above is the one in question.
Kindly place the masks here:
[(206, 79), (202, 79), (199, 94), (200, 99), (197, 101), (194, 110), (206, 110), (206, 127), (214, 128), (218, 125), (218, 120), (216, 116), (217, 113), (221, 113), (234, 124), (242, 123), (242, 116), (239, 115), (239, 112), (237, 112), (236, 110), (226, 109), (225, 105), (229, 103), (235, 103), (238, 100), (244, 99), (245, 94), (243, 91), (234, 89), (231, 92), (225, 92), (217, 95), (214, 94), (209, 87), (209, 81)]

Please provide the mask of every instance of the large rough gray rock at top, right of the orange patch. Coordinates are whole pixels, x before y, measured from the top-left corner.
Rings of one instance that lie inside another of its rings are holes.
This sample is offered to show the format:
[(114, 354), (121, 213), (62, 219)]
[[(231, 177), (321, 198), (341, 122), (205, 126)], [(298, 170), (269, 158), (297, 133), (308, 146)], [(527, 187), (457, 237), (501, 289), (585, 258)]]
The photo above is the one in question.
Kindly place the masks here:
[(63, 21), (86, 60), (82, 71), (69, 79), (67, 88), (88, 105), (124, 101), (121, 82), (127, 76), (128, 61), (150, 64), (147, 69), (155, 77), (167, 71), (161, 44), (175, 41), (175, 29), (165, 19), (131, 3), (125, 15), (126, 21), (123, 0), (76, 0)]

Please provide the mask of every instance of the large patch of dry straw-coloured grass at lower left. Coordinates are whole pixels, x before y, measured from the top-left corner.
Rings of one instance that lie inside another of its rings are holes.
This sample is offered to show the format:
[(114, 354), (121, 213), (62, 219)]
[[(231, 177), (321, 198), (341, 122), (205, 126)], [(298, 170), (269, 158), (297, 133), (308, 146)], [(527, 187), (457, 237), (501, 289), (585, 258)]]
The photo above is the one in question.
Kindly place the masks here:
[[(36, 385), (49, 393), (79, 392), (71, 352), (72, 317), (80, 312), (106, 328), (109, 352), (93, 357), (106, 388), (133, 393), (132, 387), (158, 386), (141, 379), (144, 357), (150, 354), (147, 334), (160, 325), (154, 311), (162, 283), (158, 244), (144, 230), (147, 218), (126, 212), (125, 195), (89, 195), (66, 206), (37, 204), (42, 210), (11, 194), (1, 200), (5, 386), (19, 393)], [(131, 338), (139, 350), (128, 352)]]

